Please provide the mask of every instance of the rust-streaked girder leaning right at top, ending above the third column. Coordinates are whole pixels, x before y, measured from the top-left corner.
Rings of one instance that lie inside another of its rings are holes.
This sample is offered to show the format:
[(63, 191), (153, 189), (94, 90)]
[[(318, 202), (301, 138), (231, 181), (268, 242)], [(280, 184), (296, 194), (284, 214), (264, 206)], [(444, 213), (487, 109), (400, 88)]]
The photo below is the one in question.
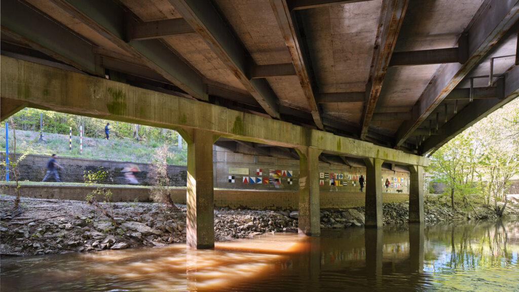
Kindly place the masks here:
[(375, 39), (375, 50), (371, 61), (370, 81), (366, 84), (368, 94), (362, 115), (360, 138), (366, 138), (375, 112), (378, 96), (382, 89), (394, 45), (404, 20), (409, 0), (384, 0)]

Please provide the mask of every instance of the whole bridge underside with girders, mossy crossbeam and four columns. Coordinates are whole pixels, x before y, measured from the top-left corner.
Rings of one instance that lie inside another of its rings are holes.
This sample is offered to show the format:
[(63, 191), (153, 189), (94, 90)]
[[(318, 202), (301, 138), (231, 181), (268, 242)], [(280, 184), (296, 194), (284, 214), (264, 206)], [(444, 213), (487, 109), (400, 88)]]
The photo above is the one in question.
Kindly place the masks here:
[(519, 95), (519, 0), (0, 5), (0, 118), (33, 107), (179, 131), (196, 247), (213, 245), (215, 142), (299, 158), (303, 233), (319, 234), (316, 165), (330, 155), (366, 164), (374, 227), (381, 164), (408, 166), (422, 221), (421, 155)]

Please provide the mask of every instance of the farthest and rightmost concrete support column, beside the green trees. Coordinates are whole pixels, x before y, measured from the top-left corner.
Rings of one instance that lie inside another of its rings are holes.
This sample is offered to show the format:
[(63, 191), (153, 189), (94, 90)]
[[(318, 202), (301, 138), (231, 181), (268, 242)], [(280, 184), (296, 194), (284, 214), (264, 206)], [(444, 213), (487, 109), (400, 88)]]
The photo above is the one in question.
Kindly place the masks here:
[(409, 222), (424, 223), (424, 167), (409, 165)]

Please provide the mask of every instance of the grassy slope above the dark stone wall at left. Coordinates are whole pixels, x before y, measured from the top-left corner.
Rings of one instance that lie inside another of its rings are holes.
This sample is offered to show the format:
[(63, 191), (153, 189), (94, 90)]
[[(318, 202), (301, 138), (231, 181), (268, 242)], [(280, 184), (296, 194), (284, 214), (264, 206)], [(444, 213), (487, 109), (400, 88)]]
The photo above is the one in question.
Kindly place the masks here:
[[(12, 153), (12, 130), (9, 130), (9, 152)], [(37, 142), (39, 132), (16, 130), (17, 153), (23, 152), (30, 145), (29, 154), (83, 157), (91, 159), (150, 163), (160, 143), (154, 141), (134, 141), (129, 138), (111, 137), (110, 140), (83, 138), (83, 153), (79, 154), (79, 137), (72, 138), (72, 151), (69, 151), (69, 136), (60, 134), (44, 134), (45, 143)], [(185, 144), (184, 144), (185, 145)], [(0, 149), (5, 151), (5, 127), (0, 128)], [(187, 147), (177, 149), (170, 147), (172, 157), (168, 163), (187, 164)]]

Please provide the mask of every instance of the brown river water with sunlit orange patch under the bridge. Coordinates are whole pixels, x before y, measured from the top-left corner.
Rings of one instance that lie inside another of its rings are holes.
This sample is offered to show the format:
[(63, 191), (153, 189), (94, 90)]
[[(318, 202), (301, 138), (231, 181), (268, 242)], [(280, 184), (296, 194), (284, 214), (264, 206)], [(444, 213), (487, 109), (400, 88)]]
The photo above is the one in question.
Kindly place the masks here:
[(8, 291), (519, 291), (519, 223), (397, 225), (3, 258)]

